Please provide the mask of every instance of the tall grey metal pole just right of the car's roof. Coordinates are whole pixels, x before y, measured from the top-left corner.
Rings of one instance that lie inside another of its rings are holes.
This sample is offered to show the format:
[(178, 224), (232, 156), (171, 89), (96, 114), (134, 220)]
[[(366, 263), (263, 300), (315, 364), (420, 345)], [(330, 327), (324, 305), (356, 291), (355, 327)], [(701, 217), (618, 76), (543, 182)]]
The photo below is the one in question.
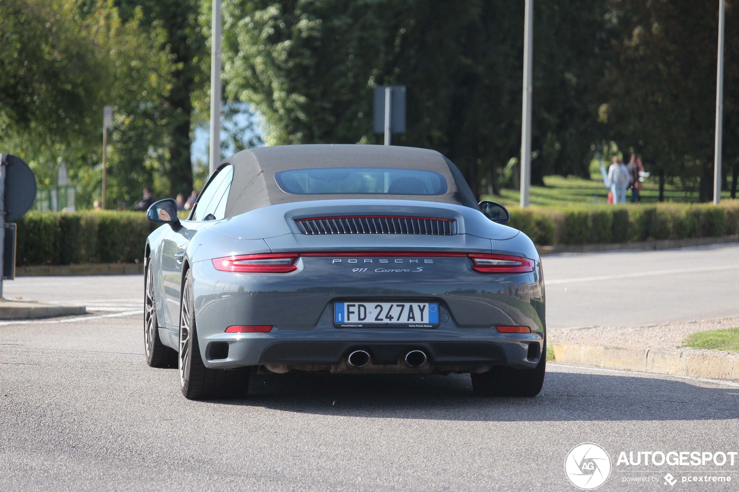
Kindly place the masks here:
[(526, 0), (523, 30), (523, 108), (521, 118), (521, 207), (528, 207), (531, 185), (531, 71), (534, 67), (534, 0)]

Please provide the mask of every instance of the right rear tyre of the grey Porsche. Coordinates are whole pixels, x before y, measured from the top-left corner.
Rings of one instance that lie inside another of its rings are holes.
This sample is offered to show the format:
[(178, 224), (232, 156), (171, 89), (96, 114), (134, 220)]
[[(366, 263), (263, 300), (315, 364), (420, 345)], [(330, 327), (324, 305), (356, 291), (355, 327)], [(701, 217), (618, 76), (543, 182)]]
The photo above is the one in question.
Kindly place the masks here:
[(472, 389), (480, 396), (536, 396), (542, 391), (546, 372), (546, 343), (534, 369), (492, 367), (482, 374), (471, 374)]

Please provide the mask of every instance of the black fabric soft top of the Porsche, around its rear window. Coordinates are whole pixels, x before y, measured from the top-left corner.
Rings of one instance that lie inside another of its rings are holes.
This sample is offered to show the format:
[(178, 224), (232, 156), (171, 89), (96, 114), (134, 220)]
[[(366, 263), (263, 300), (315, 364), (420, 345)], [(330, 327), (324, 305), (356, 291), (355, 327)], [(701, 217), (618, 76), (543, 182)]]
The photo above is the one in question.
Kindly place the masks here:
[[(474, 209), (477, 201), (457, 166), (436, 150), (396, 145), (276, 145), (242, 150), (225, 160), (233, 164), (234, 179), (225, 217), (293, 201), (373, 198), (438, 201)], [(316, 167), (393, 167), (430, 170), (446, 178), (443, 195), (292, 195), (280, 190), (275, 173)]]

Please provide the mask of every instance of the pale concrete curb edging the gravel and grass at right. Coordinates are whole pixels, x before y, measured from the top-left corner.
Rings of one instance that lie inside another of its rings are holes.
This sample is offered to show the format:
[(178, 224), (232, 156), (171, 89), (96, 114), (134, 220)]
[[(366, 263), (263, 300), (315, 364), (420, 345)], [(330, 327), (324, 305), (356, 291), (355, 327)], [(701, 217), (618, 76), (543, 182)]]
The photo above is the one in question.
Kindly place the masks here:
[(640, 373), (739, 381), (739, 356), (712, 350), (552, 344), (554, 361)]

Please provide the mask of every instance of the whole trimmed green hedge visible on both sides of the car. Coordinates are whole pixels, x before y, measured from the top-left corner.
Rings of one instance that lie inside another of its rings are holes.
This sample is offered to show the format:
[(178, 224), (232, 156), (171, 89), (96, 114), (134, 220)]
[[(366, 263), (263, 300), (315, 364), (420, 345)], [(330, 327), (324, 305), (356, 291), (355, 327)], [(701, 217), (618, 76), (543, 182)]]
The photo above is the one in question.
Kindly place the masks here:
[[(739, 200), (511, 209), (511, 222), (539, 246), (626, 243), (739, 234)], [(157, 228), (140, 212), (28, 212), (18, 221), (16, 264), (132, 263)]]

